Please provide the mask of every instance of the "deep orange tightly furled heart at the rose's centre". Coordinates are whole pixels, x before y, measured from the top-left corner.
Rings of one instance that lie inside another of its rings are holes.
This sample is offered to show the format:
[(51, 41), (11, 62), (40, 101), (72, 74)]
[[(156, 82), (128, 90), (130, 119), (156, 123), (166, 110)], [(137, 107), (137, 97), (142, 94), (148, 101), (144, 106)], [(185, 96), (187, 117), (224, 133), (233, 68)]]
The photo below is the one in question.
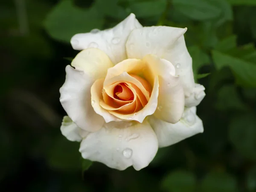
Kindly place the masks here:
[(134, 100), (134, 94), (131, 89), (127, 87), (125, 83), (118, 84), (114, 89), (114, 97), (122, 101)]

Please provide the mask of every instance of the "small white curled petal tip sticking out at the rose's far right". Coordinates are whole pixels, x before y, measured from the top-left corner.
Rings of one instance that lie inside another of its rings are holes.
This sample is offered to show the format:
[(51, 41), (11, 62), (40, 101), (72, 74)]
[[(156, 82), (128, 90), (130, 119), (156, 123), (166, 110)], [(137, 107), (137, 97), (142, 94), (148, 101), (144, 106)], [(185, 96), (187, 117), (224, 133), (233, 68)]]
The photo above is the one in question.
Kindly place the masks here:
[(185, 107), (193, 107), (200, 104), (200, 102), (204, 99), (205, 93), (204, 93), (204, 86), (201, 84), (195, 84), (195, 87), (193, 89), (193, 93), (185, 98)]

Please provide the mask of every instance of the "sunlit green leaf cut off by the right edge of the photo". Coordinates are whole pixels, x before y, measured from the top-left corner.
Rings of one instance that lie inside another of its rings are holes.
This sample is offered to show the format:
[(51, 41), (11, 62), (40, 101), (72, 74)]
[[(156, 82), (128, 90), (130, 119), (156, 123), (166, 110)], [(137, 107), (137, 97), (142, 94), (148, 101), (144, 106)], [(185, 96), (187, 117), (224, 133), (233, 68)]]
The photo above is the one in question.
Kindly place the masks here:
[(212, 58), (218, 70), (225, 66), (231, 68), (237, 84), (244, 87), (256, 87), (256, 64), (216, 50), (212, 51)]

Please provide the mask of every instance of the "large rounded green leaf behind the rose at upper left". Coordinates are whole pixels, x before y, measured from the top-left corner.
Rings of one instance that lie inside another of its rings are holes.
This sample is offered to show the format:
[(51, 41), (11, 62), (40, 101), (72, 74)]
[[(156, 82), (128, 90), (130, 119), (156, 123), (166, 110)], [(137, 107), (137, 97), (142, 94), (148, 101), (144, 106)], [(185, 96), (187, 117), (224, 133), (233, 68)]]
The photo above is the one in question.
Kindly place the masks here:
[(62, 0), (47, 15), (44, 26), (49, 35), (59, 41), (69, 43), (73, 35), (101, 29), (103, 15), (95, 6), (80, 9), (71, 0)]

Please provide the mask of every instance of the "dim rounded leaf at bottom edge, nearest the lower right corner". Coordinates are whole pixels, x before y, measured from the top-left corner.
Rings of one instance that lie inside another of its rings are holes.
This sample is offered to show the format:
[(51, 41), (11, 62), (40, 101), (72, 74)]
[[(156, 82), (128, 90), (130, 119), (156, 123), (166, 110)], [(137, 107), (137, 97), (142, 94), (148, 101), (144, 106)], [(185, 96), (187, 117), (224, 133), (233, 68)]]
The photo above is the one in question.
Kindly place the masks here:
[(202, 192), (236, 192), (236, 180), (227, 173), (209, 173), (201, 183)]

